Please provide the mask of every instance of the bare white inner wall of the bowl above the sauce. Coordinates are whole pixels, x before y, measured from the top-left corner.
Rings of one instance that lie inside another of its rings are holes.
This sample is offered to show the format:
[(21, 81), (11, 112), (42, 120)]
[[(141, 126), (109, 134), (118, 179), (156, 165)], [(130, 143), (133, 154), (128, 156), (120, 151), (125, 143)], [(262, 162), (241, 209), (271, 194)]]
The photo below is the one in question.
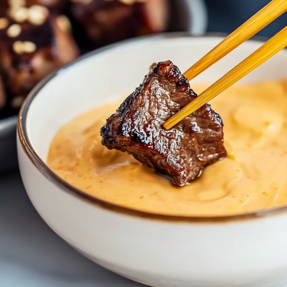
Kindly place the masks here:
[[(143, 81), (149, 66), (172, 60), (185, 71), (222, 38), (159, 35), (129, 40), (61, 69), (30, 104), (26, 125), (36, 153), (46, 162), (57, 130), (85, 111), (131, 93)], [(191, 82), (214, 82), (255, 51), (262, 42), (247, 41)], [(241, 82), (287, 77), (283, 50), (245, 76)], [(195, 91), (197, 93), (201, 91)]]

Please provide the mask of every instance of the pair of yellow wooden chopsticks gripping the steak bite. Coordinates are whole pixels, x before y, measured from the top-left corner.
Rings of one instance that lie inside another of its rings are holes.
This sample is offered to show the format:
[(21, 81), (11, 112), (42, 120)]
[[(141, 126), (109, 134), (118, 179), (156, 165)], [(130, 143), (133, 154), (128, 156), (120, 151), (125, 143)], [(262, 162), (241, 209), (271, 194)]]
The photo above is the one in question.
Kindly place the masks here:
[[(216, 63), (222, 57), (234, 50), (237, 46), (255, 35), (287, 10), (287, 0), (273, 0), (249, 20), (243, 23), (222, 42), (203, 56), (197, 63), (190, 67), (183, 75), (190, 81), (202, 71)], [(270, 57), (287, 46), (287, 26), (270, 38), (259, 49), (244, 59), (236, 67), (226, 73), (217, 82), (212, 84), (194, 100), (170, 117), (164, 124), (165, 129), (170, 129), (195, 110), (209, 102), (232, 84), (240, 80), (249, 72), (264, 63)]]

